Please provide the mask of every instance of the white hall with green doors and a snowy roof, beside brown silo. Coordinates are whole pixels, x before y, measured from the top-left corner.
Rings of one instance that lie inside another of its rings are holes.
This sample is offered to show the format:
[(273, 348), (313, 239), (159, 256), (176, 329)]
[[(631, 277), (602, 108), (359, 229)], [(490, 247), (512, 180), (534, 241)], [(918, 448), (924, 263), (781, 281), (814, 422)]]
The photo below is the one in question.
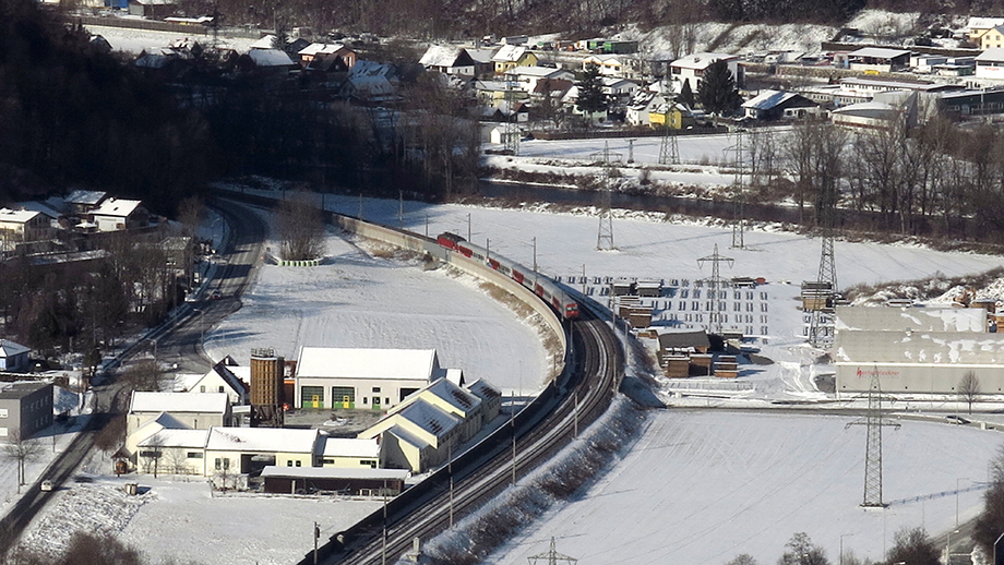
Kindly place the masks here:
[(301, 347), (295, 406), (385, 410), (444, 373), (434, 349)]

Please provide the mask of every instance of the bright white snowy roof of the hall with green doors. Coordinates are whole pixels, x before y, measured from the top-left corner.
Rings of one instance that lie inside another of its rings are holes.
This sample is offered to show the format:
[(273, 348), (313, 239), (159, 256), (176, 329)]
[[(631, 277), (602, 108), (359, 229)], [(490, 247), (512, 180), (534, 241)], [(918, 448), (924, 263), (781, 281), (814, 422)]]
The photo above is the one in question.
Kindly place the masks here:
[(435, 349), (302, 347), (297, 377), (428, 381), (438, 365)]

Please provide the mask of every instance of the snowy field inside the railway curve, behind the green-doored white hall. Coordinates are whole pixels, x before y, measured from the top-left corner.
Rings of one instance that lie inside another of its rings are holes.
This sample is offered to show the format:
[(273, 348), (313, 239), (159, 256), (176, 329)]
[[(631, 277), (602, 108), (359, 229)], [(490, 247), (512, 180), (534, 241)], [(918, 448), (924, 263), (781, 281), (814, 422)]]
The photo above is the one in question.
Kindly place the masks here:
[(287, 359), (303, 346), (434, 348), (441, 366), (463, 369), (470, 382), (487, 378), (506, 394), (533, 394), (543, 382), (537, 332), (470, 277), (374, 257), (334, 232), (325, 257), (319, 267), (263, 266), (240, 311), (206, 333), (206, 352), (247, 364), (256, 347), (274, 347)]

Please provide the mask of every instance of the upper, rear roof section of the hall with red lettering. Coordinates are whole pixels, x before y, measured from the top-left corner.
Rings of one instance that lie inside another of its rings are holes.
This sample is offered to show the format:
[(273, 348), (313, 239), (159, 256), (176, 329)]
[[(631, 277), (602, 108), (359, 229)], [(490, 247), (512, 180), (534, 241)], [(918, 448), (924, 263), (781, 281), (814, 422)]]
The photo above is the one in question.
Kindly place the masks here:
[(836, 328), (869, 332), (985, 332), (979, 308), (837, 306)]

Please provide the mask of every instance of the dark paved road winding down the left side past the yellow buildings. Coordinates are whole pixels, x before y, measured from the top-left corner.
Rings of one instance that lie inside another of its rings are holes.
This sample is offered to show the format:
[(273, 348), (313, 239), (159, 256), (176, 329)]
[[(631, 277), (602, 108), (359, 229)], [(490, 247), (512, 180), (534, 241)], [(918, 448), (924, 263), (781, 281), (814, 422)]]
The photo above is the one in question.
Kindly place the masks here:
[[(265, 237), (264, 223), (247, 207), (230, 201), (214, 201), (211, 206), (224, 216), (230, 228), (229, 241), (219, 254), (222, 265), (217, 268), (211, 287), (218, 288), (223, 298), (187, 304), (174, 324), (166, 325), (152, 336), (152, 339), (157, 341), (157, 354), (162, 361), (178, 363), (179, 370), (193, 372), (208, 370), (210, 361), (202, 350), (201, 337), (205, 329), (240, 308), (240, 294), (253, 279)], [(150, 345), (152, 344), (138, 344), (127, 349), (112, 366), (139, 351), (146, 350)], [(111, 414), (125, 410), (127, 395), (121, 386), (115, 383), (113, 375), (106, 375), (105, 382), (92, 389), (95, 408), (84, 430), (52, 461), (35, 484), (25, 488), (21, 500), (0, 519), (0, 555), (16, 542), (52, 494), (70, 480), (84, 458), (94, 449), (95, 435), (105, 426)], [(52, 481), (53, 491), (43, 492), (39, 489), (43, 480)]]

